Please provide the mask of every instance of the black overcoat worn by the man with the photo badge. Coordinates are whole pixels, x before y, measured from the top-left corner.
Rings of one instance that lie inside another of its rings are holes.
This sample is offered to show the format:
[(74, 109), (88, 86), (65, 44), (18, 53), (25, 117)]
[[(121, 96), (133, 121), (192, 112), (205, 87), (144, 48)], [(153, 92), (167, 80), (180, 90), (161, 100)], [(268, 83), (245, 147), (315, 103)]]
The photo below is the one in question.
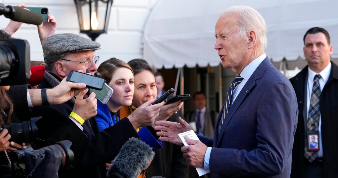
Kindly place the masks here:
[[(321, 135), (323, 143), (323, 177), (338, 175), (338, 66), (331, 62), (331, 73), (321, 95), (319, 110), (321, 115)], [(299, 108), (298, 126), (292, 150), (291, 178), (304, 177), (304, 147), (306, 128), (306, 89), (308, 66), (290, 79), (295, 90)]]

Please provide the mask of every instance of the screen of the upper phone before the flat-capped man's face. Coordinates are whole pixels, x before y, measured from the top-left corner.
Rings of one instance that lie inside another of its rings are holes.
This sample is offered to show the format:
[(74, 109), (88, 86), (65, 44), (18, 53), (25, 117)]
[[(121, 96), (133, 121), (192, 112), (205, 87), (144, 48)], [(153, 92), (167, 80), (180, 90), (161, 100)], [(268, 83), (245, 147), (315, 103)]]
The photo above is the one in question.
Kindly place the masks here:
[(86, 85), (93, 86), (95, 88), (102, 88), (104, 84), (104, 79), (100, 77), (95, 77), (89, 74), (84, 74), (81, 72), (73, 71), (70, 81), (74, 81), (77, 83), (85, 83)]

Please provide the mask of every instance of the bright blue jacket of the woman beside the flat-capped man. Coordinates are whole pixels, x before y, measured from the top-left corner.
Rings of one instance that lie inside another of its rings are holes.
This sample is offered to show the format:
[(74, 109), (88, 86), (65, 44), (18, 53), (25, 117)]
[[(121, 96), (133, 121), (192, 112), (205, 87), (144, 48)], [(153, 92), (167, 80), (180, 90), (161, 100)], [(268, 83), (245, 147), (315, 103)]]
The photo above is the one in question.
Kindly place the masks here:
[[(97, 102), (97, 115), (95, 116), (97, 124), (99, 126), (100, 131), (113, 126), (120, 119), (116, 115), (112, 117), (110, 110), (108, 109), (106, 104)], [(141, 140), (148, 144), (150, 147), (155, 148), (154, 151), (162, 148), (162, 141), (156, 139), (148, 130), (147, 127), (142, 127), (138, 132)]]

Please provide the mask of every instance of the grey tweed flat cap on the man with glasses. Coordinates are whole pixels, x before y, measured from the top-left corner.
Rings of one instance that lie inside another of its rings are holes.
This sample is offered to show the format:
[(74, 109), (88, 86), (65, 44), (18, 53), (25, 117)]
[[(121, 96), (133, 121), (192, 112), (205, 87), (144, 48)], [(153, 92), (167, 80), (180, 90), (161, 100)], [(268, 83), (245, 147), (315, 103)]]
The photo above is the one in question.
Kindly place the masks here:
[(100, 49), (100, 44), (73, 33), (60, 33), (47, 37), (42, 43), (46, 63), (52, 63), (73, 52)]

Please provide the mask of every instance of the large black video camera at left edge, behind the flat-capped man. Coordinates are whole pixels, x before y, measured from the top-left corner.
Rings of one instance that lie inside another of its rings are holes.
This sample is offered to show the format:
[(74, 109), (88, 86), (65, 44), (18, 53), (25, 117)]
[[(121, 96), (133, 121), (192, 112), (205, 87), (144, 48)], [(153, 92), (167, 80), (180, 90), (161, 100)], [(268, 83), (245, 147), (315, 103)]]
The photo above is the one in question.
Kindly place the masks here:
[(30, 78), (30, 46), (27, 40), (0, 40), (0, 85), (20, 85)]

